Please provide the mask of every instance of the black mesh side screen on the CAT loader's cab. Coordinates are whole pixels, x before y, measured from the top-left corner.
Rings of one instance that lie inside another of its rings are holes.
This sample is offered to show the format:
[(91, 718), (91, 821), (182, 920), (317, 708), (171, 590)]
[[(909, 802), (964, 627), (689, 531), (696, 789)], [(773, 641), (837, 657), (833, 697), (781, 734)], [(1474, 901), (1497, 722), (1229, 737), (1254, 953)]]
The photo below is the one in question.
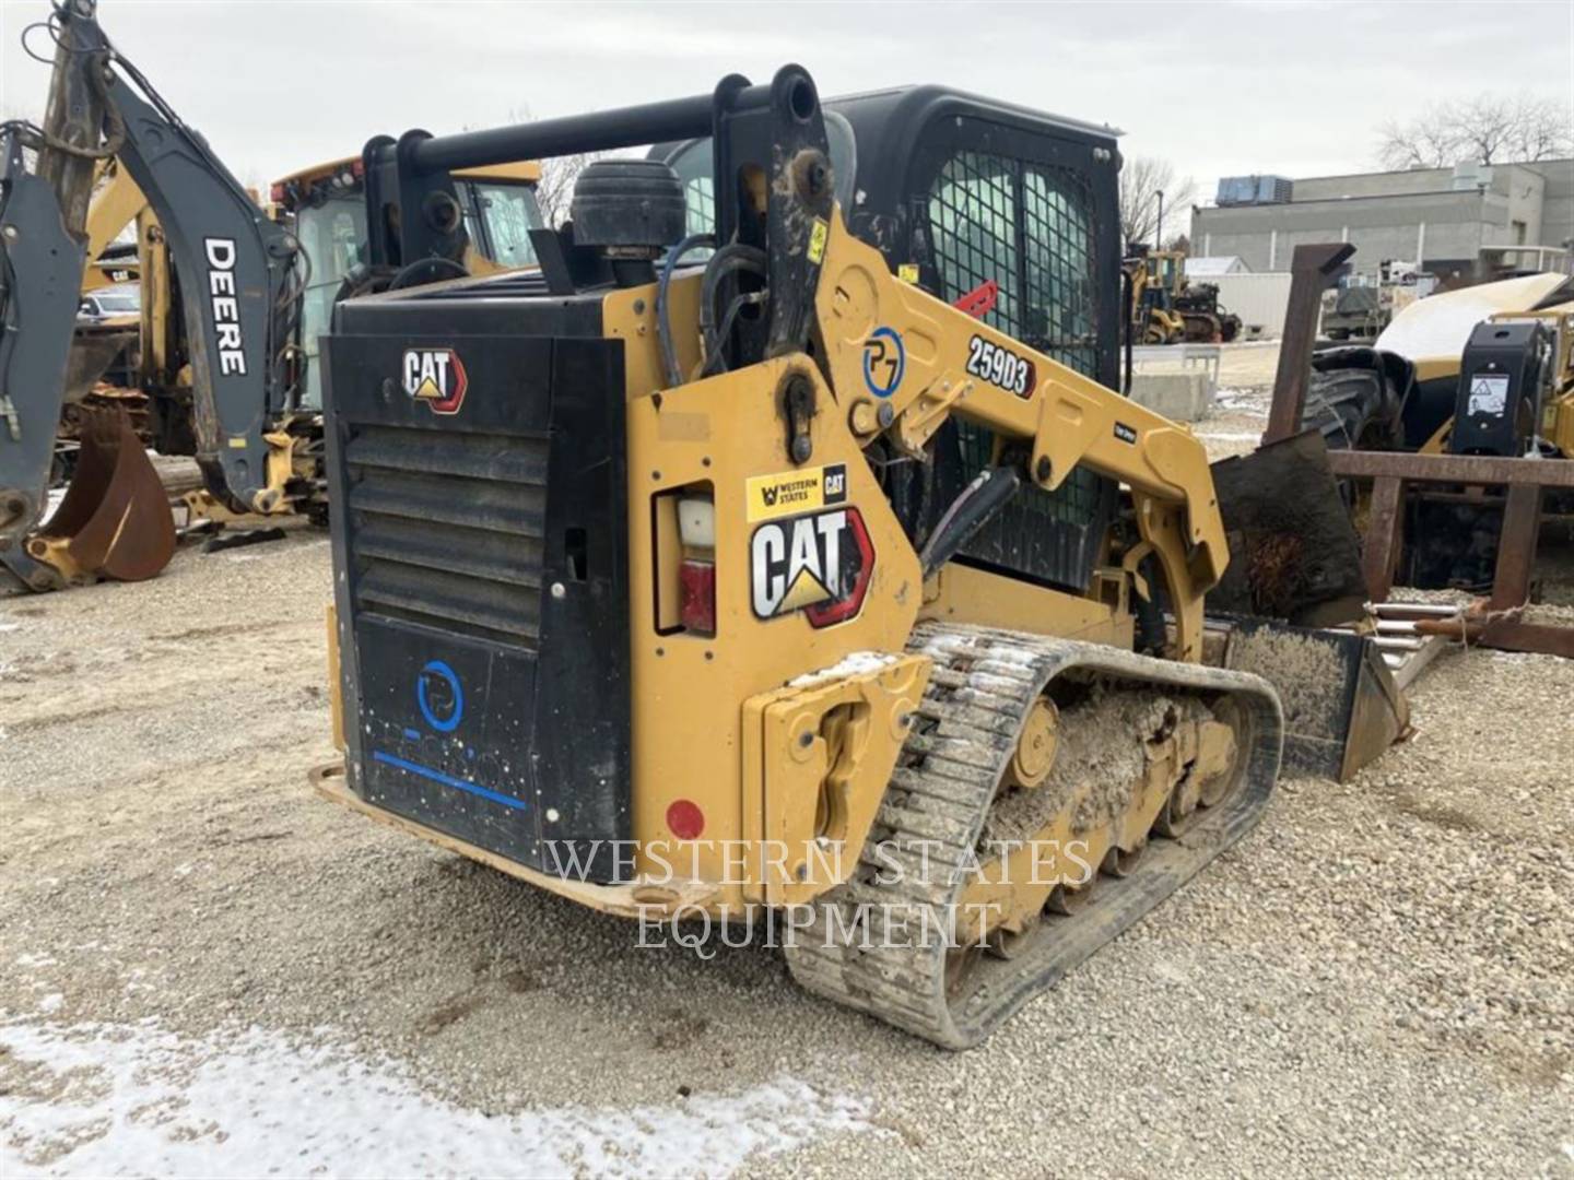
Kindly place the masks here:
[[(929, 230), (944, 299), (996, 280), (992, 327), (1097, 376), (1092, 195), (1077, 173), (960, 151), (930, 190)], [(971, 478), (990, 463), (993, 433), (959, 423), (959, 436)], [(1108, 481), (1088, 470), (1055, 492), (1023, 488), (963, 552), (1081, 588), (1111, 502)]]

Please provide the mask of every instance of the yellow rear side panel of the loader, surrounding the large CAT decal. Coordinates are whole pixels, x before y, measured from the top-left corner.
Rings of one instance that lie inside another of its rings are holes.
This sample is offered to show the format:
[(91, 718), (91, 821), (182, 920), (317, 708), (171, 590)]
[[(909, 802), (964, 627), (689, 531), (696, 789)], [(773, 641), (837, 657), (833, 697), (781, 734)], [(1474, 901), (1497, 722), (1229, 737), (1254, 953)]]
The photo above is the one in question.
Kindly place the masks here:
[[(683, 327), (697, 321), (697, 277), (674, 283), (674, 334), (682, 340), (694, 335)], [(644, 310), (636, 312), (636, 305)], [(608, 335), (625, 341), (628, 374), (634, 839), (647, 854), (671, 851), (674, 872), (697, 870), (705, 879), (735, 883), (719, 902), (741, 905), (745, 884), (756, 884), (754, 870), (727, 857), (737, 854), (751, 828), (759, 828), (762, 801), (757, 795), (745, 799), (740, 702), (776, 692), (853, 653), (900, 653), (922, 603), (922, 577), (889, 500), (863, 459), (861, 442), (848, 431), (845, 415), (831, 411), (834, 398), (818, 370), (806, 357), (784, 357), (664, 390), (653, 305), (653, 288), (619, 291), (604, 305)], [(697, 363), (697, 352), (680, 351), (680, 362)], [(818, 404), (828, 411), (812, 420), (811, 463), (796, 466), (787, 455), (776, 395), (793, 376), (814, 382)], [(767, 508), (760, 491), (787, 489), (809, 477), (823, 492), (826, 480), (837, 474), (845, 486), (833, 496), (836, 511), (858, 514), (874, 555), (861, 609), (825, 628), (814, 628), (790, 601), (781, 604), (781, 614), (762, 618), (759, 601), (751, 601), (749, 552), (756, 535), (768, 529), (789, 544), (807, 546), (804, 522), (812, 516), (793, 514), (785, 502), (781, 510)], [(680, 544), (675, 530), (663, 527), (663, 513), (671, 513), (688, 489), (710, 489), (715, 497), (713, 637), (675, 632), (669, 615), (678, 595)], [(914, 673), (889, 691), (911, 711), (921, 689)], [(831, 708), (825, 703), (822, 711)], [(889, 713), (896, 705), (886, 702), (885, 708)], [(900, 739), (892, 736), (869, 750), (883, 765), (859, 776), (867, 777), (866, 798), (853, 804), (859, 815), (869, 812), (867, 793), (878, 798), (885, 788), (899, 747)], [(774, 757), (785, 757), (785, 750), (776, 749)], [(767, 752), (767, 761), (771, 758)], [(704, 813), (696, 840), (678, 839), (669, 826), (669, 809), (678, 801), (697, 804)], [(814, 831), (803, 835), (812, 839)], [(660, 864), (641, 868), (664, 872)], [(834, 883), (822, 881), (820, 887), (828, 884)]]

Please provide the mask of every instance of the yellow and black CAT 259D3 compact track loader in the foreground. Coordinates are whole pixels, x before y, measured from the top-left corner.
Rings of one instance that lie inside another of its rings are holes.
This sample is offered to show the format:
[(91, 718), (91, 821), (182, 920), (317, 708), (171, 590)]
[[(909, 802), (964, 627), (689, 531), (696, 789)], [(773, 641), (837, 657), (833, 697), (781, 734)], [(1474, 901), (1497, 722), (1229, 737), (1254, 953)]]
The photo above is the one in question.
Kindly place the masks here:
[(373, 140), (375, 252), (452, 256), (456, 168), (652, 143), (538, 271), (337, 305), (313, 777), (603, 911), (773, 913), (804, 986), (976, 1045), (1281, 757), (1267, 681), (1201, 662), (1203, 445), (1111, 392), (1114, 138), (787, 66)]

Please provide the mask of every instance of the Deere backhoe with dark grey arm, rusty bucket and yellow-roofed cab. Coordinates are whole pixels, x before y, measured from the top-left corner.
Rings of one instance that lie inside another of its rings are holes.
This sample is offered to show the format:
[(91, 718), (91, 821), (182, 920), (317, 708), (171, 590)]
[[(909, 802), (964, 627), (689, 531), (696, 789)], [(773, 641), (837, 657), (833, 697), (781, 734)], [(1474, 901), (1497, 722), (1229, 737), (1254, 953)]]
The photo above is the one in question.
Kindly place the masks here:
[[(321, 518), (312, 360), (326, 305), (349, 291), (494, 271), (493, 253), (526, 261), (529, 223), (538, 223), (535, 165), (458, 181), (467, 201), (458, 263), (357, 261), (354, 241), (346, 255), (337, 230), (302, 249), (296, 219), (315, 233), (329, 225), (316, 217), (329, 198), (362, 208), (348, 160), (343, 170), (323, 165), (286, 178), (282, 217), (268, 217), (115, 52), (93, 0), (58, 0), (39, 28), (55, 42), (44, 126), (0, 127), (0, 581), (9, 574), (52, 590), (157, 574), (173, 554), (175, 527), (145, 444), (197, 456), (205, 486), (186, 500), (198, 516)], [(27, 149), (36, 153), (31, 168)], [(77, 332), (72, 346), (77, 293), (96, 282), (93, 261), (131, 219), (143, 286), (139, 389), (82, 401), (115, 340)], [(362, 253), (364, 239), (362, 227)], [(315, 283), (313, 245), (329, 275)], [(132, 403), (135, 419), (123, 412)], [(42, 519), (63, 404), (80, 453), (65, 500)]]

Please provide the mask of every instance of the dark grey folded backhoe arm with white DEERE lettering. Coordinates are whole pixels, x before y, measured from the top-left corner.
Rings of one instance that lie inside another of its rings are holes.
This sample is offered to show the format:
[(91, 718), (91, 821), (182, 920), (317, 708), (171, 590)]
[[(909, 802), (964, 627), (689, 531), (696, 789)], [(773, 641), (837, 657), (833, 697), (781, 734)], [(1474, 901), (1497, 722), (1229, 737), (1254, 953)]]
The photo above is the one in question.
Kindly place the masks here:
[[(299, 255), (115, 52), (96, 0), (57, 0), (47, 28), (55, 60), (44, 126), (0, 127), (0, 560), (31, 585), (50, 571), (20, 541), (46, 503), (96, 165), (116, 157), (164, 228), (186, 293), (197, 459), (209, 491), (238, 511), (271, 511), (279, 497), (264, 431), (291, 398)], [(24, 146), (38, 153), (31, 173)]]

